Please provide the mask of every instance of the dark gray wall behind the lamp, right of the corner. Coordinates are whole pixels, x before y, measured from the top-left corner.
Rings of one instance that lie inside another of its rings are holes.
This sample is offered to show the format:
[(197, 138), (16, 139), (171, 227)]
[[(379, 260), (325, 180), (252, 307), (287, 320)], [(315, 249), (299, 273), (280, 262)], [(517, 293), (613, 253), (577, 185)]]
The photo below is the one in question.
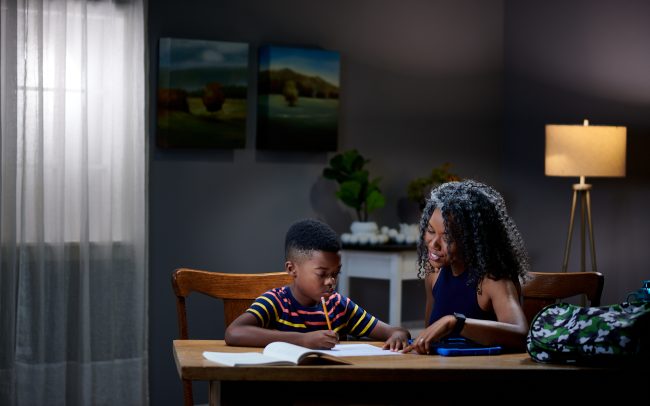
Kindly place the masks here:
[[(625, 300), (650, 279), (649, 22), (644, 0), (513, 0), (505, 6), (503, 183), (535, 270), (561, 269), (571, 185), (578, 181), (544, 176), (545, 124), (586, 118), (627, 127), (627, 176), (587, 178), (605, 304)], [(579, 269), (579, 242), (576, 233), (569, 271)]]

